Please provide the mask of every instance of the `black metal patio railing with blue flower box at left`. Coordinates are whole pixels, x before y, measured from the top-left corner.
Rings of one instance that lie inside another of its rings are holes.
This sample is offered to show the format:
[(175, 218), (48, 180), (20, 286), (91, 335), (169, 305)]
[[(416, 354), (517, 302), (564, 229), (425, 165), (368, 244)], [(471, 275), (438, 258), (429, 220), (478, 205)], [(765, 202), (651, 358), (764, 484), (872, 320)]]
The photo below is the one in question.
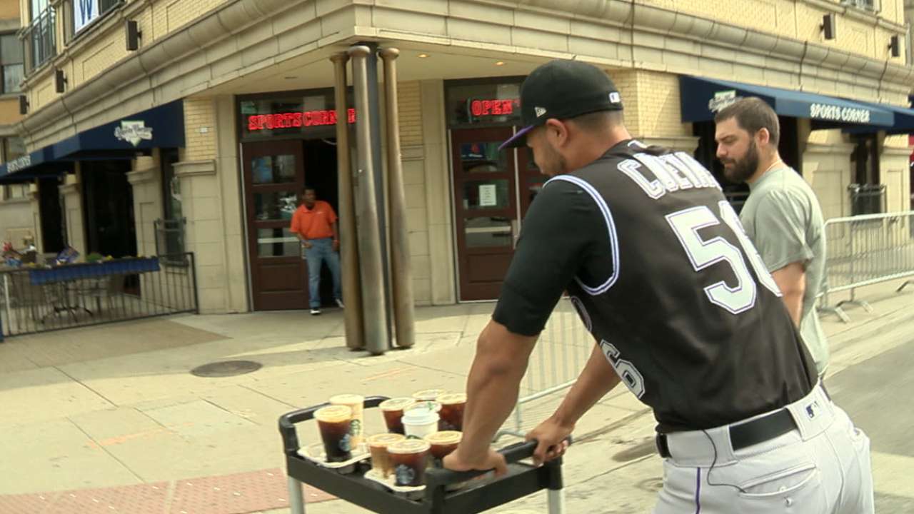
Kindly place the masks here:
[[(169, 262), (187, 262), (173, 266)], [(0, 341), (197, 312), (194, 254), (0, 270)]]

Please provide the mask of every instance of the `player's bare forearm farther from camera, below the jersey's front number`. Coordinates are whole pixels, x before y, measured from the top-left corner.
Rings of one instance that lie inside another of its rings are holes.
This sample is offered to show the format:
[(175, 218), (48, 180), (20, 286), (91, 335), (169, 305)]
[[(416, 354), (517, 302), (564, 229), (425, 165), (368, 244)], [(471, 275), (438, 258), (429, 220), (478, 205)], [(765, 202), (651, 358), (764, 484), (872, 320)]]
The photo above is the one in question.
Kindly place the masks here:
[(565, 396), (565, 400), (554, 414), (553, 419), (565, 426), (574, 426), (585, 412), (590, 411), (606, 393), (620, 382), (619, 375), (610, 366), (599, 346), (594, 345), (590, 359), (580, 372), (578, 381)]

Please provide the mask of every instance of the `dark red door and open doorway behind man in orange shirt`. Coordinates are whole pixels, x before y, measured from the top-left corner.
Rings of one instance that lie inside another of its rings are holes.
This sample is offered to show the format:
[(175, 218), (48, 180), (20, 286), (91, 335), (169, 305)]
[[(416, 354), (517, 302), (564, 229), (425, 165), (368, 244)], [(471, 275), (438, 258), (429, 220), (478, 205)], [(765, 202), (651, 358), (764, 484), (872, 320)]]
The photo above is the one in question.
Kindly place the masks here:
[[(324, 140), (291, 139), (242, 145), (253, 309), (304, 309), (308, 272), (298, 236), (289, 230), (305, 186), (336, 209), (336, 150)], [(324, 270), (324, 273), (326, 270)], [(322, 275), (321, 297), (333, 300)]]

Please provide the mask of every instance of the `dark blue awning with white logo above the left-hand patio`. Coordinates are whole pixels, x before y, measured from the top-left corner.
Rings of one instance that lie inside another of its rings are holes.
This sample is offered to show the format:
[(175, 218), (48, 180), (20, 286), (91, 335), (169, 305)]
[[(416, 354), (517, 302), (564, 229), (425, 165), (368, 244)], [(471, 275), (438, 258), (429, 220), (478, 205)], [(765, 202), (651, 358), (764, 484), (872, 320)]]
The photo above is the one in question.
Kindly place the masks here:
[(105, 123), (0, 165), (0, 183), (55, 175), (82, 160), (130, 159), (151, 148), (183, 147), (184, 102), (165, 103)]

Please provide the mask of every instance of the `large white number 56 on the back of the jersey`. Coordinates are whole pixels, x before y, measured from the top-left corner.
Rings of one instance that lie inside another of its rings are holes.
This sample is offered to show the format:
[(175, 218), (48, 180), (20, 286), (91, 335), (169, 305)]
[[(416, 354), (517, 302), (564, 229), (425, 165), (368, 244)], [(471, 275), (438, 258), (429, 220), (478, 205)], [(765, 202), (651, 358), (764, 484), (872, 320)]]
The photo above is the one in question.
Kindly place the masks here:
[(749, 258), (749, 263), (759, 277), (759, 282), (771, 293), (781, 296), (781, 290), (778, 284), (774, 282), (771, 273), (761, 262), (759, 252), (752, 246), (749, 236), (743, 230), (739, 223), (739, 216), (727, 201), (718, 203), (720, 208), (720, 220), (728, 225), (730, 230), (736, 234), (739, 248), (733, 246), (729, 241), (717, 236), (710, 240), (704, 241), (698, 236), (698, 230), (718, 225), (720, 220), (706, 206), (693, 207), (690, 209), (680, 210), (666, 216), (666, 221), (682, 243), (685, 254), (688, 255), (689, 261), (696, 272), (704, 270), (708, 266), (717, 264), (717, 262), (727, 262), (733, 273), (736, 274), (737, 284), (730, 287), (724, 281), (708, 285), (705, 288), (705, 294), (712, 304), (719, 305), (733, 314), (745, 312), (755, 305), (756, 299), (756, 282), (749, 273), (746, 266), (746, 260), (743, 255)]

